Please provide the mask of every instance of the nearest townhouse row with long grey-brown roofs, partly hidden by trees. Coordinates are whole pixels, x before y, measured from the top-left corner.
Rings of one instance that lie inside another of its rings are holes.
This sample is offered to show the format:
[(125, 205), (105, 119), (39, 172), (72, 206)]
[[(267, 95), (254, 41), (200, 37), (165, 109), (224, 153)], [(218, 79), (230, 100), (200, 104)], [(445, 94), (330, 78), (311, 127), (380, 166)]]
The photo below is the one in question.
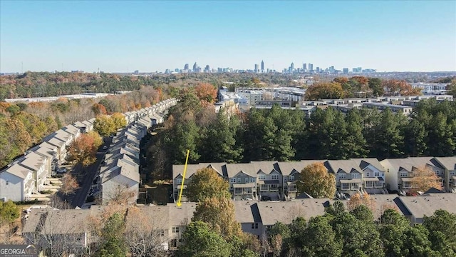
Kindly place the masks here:
[[(411, 223), (422, 223), (424, 216), (432, 216), (437, 209), (456, 213), (455, 193), (428, 193), (422, 196), (371, 196), (375, 202), (373, 216), (378, 220), (387, 208), (395, 208), (407, 217)], [(344, 205), (348, 201), (342, 201)], [(266, 236), (271, 226), (276, 222), (291, 224), (296, 217), (304, 217), (309, 221), (311, 217), (321, 216), (325, 208), (333, 204), (328, 198), (302, 198), (292, 201), (258, 202), (234, 201), (234, 215), (241, 224), (242, 231), (252, 233), (259, 238)], [(144, 226), (135, 226), (138, 233), (141, 228), (152, 229), (153, 236), (147, 240), (162, 250), (176, 250), (185, 242), (182, 233), (192, 220), (197, 203), (182, 203), (177, 207), (170, 203), (167, 206), (138, 206), (138, 211), (126, 211), (127, 226), (129, 222), (141, 222)], [(131, 207), (125, 207), (131, 208)], [(28, 221), (22, 230), (26, 243), (46, 247), (49, 235), (53, 236), (53, 243), (66, 244), (73, 247), (71, 251), (77, 253), (98, 240), (93, 234), (93, 217), (103, 215), (105, 207), (92, 206), (90, 209), (56, 210), (33, 209)], [(130, 213), (140, 216), (128, 218)], [(147, 225), (146, 225), (147, 224)], [(150, 231), (147, 231), (149, 233)], [(59, 241), (61, 240), (61, 241)], [(68, 247), (67, 251), (71, 247)]]

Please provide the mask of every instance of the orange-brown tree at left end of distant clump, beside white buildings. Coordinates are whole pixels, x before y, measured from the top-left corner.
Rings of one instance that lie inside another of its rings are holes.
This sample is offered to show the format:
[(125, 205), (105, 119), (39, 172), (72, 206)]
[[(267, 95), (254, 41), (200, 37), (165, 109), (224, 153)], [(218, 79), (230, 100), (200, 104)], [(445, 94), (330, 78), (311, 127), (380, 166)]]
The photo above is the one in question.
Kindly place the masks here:
[(337, 82), (318, 82), (309, 86), (306, 91), (306, 100), (341, 99), (343, 89)]

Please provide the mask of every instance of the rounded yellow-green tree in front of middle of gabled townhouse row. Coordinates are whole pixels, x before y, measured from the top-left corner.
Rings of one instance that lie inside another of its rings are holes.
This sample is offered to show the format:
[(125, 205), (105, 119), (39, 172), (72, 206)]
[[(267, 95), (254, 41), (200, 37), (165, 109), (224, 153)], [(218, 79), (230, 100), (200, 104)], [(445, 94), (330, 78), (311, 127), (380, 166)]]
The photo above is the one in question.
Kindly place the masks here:
[(300, 192), (309, 193), (315, 198), (333, 198), (336, 193), (336, 178), (328, 173), (323, 163), (304, 167), (296, 184)]

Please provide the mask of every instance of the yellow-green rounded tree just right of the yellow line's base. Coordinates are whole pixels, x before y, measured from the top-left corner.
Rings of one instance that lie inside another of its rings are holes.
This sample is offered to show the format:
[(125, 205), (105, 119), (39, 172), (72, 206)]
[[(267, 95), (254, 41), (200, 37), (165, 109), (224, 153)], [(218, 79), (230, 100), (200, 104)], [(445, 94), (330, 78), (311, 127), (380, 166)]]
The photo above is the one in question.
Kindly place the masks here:
[(205, 198), (231, 198), (229, 184), (212, 168), (199, 169), (185, 190), (190, 201), (203, 201)]

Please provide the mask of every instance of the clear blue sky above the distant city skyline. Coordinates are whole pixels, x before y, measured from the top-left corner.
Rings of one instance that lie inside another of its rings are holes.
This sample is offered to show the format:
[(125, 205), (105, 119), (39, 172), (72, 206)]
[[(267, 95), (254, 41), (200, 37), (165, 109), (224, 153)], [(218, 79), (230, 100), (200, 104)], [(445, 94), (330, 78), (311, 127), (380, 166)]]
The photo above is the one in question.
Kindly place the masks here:
[(0, 1), (0, 72), (456, 71), (456, 1)]

